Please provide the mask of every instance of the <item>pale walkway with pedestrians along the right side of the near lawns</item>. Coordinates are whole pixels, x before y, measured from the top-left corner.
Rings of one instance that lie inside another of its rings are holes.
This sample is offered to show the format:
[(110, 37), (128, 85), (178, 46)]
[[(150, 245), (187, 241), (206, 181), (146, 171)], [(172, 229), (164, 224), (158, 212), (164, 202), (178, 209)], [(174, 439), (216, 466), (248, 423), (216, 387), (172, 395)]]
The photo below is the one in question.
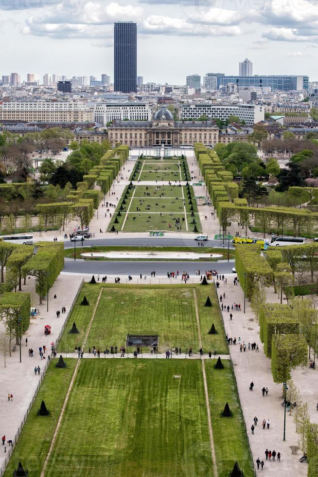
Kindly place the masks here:
[[(233, 276), (233, 275), (231, 275)], [(241, 304), (241, 312), (231, 311), (233, 314), (230, 321), (230, 313), (223, 312), (223, 319), (226, 333), (229, 337), (239, 336), (242, 342), (253, 343), (259, 346), (259, 352), (246, 349), (246, 352), (240, 352), (239, 343), (236, 346), (230, 345), (230, 355), (233, 361), (235, 377), (239, 390), (239, 396), (243, 414), (247, 423), (247, 435), (249, 444), (253, 453), (254, 463), (260, 457), (264, 459), (264, 471), (266, 475), (281, 477), (292, 475), (304, 477), (307, 474), (307, 465), (300, 463), (302, 456), (298, 447), (298, 435), (295, 431), (293, 417), (286, 412), (286, 440), (283, 441), (283, 420), (284, 408), (281, 406), (282, 385), (273, 382), (271, 373), (271, 361), (265, 357), (263, 344), (259, 338), (259, 325), (255, 320), (254, 313), (250, 308), (249, 302), (246, 300), (246, 313), (243, 312), (244, 293), (241, 287), (234, 286), (233, 280), (229, 279), (227, 285), (220, 285), (218, 295), (226, 293), (223, 303), (230, 305), (232, 303)], [(230, 296), (230, 298), (228, 298)], [(271, 298), (269, 301), (274, 301)], [(311, 421), (318, 423), (318, 413), (316, 411), (318, 396), (318, 374), (317, 370), (309, 368), (298, 368), (292, 372), (293, 381), (300, 389), (301, 400), (308, 402)], [(251, 392), (249, 385), (253, 381), (254, 389)], [(269, 389), (268, 396), (262, 396), (262, 388), (267, 386)], [(316, 398), (315, 398), (316, 396)], [(258, 418), (258, 425), (255, 428), (254, 436), (251, 434), (250, 426), (253, 423), (254, 416)], [(270, 420), (270, 429), (263, 430), (262, 421)], [(268, 462), (265, 460), (265, 449), (275, 449), (282, 455), (281, 462)]]

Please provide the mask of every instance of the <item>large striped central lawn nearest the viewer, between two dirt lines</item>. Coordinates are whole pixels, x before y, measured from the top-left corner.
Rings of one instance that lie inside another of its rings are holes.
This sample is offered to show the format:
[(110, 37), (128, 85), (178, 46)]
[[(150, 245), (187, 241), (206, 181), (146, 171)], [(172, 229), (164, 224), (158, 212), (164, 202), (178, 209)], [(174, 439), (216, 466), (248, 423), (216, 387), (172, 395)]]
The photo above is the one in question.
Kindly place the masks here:
[(80, 362), (46, 477), (199, 475), (213, 476), (199, 360)]

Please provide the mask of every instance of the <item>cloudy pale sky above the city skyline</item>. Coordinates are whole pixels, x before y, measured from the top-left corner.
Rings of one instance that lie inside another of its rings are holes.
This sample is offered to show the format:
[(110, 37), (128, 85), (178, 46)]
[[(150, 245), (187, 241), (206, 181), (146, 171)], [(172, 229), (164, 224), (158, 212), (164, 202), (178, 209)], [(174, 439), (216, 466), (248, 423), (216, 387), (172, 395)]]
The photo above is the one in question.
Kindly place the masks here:
[(308, 74), (318, 80), (318, 0), (0, 0), (0, 75), (113, 78), (113, 22), (138, 23), (144, 82), (187, 74)]

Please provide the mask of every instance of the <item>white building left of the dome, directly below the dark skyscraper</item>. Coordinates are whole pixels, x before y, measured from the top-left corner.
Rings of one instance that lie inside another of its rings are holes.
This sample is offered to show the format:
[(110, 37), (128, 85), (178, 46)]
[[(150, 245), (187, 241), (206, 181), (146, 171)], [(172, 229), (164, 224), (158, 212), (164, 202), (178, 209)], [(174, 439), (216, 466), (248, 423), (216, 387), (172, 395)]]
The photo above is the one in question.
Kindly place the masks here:
[(151, 109), (149, 103), (97, 103), (94, 111), (94, 121), (101, 126), (117, 119), (124, 121), (149, 121)]

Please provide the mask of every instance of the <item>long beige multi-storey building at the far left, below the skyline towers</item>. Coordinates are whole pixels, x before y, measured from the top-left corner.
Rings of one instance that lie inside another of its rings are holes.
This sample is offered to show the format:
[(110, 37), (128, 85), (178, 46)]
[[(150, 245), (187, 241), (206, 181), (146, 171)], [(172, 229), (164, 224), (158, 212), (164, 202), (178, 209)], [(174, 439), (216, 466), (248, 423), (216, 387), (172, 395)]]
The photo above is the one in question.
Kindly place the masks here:
[(78, 101), (0, 101), (0, 121), (85, 122), (93, 120), (93, 108)]

